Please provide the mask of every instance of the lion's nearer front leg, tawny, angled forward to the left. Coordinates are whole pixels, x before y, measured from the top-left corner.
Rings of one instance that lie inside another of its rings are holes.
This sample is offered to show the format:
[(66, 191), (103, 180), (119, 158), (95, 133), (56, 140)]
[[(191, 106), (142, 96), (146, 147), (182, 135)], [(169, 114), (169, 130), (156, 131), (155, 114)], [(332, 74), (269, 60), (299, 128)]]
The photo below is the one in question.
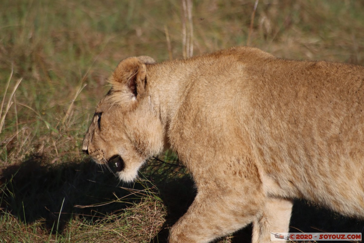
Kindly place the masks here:
[(171, 228), (169, 243), (207, 243), (253, 222), (262, 213), (262, 195), (241, 197), (241, 192), (198, 193), (186, 214)]

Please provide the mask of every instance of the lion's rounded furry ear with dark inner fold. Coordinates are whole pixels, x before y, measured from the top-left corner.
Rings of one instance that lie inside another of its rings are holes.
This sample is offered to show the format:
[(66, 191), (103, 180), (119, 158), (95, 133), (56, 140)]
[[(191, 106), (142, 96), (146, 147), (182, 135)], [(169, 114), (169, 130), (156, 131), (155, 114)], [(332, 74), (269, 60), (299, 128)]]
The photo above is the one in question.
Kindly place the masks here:
[(131, 57), (122, 60), (115, 68), (109, 82), (115, 97), (120, 102), (137, 101), (145, 95), (146, 91), (146, 64), (155, 63), (149, 56)]

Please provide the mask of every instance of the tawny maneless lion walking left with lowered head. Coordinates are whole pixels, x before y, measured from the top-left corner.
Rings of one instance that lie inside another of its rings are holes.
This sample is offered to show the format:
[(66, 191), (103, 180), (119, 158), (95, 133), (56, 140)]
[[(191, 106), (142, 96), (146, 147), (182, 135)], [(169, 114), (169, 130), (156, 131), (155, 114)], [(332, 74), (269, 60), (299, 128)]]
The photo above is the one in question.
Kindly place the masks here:
[(233, 47), (157, 63), (122, 60), (82, 150), (130, 182), (171, 149), (197, 195), (169, 243), (211, 242), (253, 222), (289, 232), (292, 199), (364, 217), (364, 67)]

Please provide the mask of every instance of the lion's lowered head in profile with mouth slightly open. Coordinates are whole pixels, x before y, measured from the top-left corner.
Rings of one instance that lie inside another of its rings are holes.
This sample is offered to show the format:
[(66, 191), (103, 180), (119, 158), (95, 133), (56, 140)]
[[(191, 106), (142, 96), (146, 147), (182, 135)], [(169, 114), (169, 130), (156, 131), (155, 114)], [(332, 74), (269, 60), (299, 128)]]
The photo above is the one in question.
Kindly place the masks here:
[(84, 137), (82, 150), (99, 164), (112, 162), (119, 178), (132, 181), (149, 157), (162, 152), (162, 122), (150, 100), (147, 56), (119, 63), (109, 82), (112, 87), (98, 103)]

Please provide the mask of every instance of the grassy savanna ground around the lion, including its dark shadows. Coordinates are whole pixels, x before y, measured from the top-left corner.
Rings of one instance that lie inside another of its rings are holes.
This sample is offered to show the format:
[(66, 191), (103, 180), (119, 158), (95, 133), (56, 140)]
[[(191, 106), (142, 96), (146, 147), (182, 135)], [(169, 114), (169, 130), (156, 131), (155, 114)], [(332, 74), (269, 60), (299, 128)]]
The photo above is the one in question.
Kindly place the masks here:
[[(363, 1), (260, 0), (255, 12), (254, 3), (194, 1), (194, 54), (249, 44), (364, 65)], [(183, 57), (182, 9), (179, 0), (0, 2), (0, 242), (165, 242), (194, 197), (176, 156), (122, 184), (80, 147), (121, 59)], [(363, 232), (364, 223), (297, 201), (291, 226)], [(219, 242), (249, 242), (250, 231)]]

